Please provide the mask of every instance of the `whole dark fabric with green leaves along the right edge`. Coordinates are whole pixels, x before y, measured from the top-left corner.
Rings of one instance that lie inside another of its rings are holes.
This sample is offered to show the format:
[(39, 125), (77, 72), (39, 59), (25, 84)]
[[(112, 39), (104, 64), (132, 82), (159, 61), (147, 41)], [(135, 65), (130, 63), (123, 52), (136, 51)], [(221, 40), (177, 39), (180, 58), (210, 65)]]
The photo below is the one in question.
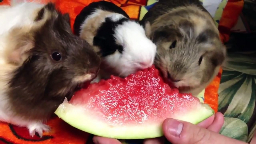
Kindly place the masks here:
[(244, 0), (238, 22), (231, 29), (228, 59), (218, 90), (218, 110), (225, 116), (220, 133), (247, 143), (256, 130), (255, 10), (255, 0)]

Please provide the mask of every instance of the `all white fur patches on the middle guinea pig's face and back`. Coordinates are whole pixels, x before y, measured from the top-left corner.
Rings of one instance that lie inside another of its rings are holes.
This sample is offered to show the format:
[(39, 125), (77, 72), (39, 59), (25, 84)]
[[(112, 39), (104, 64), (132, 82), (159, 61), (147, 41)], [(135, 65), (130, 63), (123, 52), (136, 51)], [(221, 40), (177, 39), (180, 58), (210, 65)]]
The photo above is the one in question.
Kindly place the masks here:
[[(106, 15), (104, 15), (104, 13)], [(101, 17), (101, 18), (100, 18)], [(113, 12), (106, 12), (102, 9), (95, 9), (81, 25), (80, 34), (83, 28), (88, 25), (91, 19), (99, 19), (97, 26), (102, 25), (106, 18), (110, 18), (113, 22), (121, 18), (126, 18), (124, 15)], [(114, 54), (104, 57), (103, 61), (107, 64), (112, 72), (106, 72), (101, 77), (108, 78), (109, 74), (116, 74), (122, 77), (135, 73), (140, 69), (146, 69), (153, 65), (156, 55), (156, 45), (146, 37), (143, 26), (135, 21), (124, 22), (115, 29), (116, 44), (121, 44), (124, 47), (123, 53), (116, 51)], [(92, 45), (93, 40), (87, 40)], [(144, 64), (143, 64), (144, 63)], [(93, 82), (99, 81), (100, 78)]]

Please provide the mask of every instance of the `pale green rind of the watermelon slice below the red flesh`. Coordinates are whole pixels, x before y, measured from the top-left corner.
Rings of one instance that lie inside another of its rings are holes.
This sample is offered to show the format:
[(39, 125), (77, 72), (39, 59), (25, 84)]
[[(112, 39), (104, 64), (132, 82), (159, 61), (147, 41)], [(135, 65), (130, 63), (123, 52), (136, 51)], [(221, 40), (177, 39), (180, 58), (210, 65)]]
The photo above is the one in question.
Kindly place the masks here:
[[(69, 125), (88, 132), (107, 138), (116, 139), (146, 139), (163, 136), (162, 122), (156, 124), (138, 124), (128, 126), (111, 126), (94, 118), (91, 113), (81, 106), (74, 106), (66, 100), (57, 108), (55, 114)], [(198, 103), (195, 109), (190, 112), (184, 112), (185, 116), (176, 117), (175, 119), (187, 121), (193, 124), (202, 122), (214, 114), (214, 110), (207, 104)]]

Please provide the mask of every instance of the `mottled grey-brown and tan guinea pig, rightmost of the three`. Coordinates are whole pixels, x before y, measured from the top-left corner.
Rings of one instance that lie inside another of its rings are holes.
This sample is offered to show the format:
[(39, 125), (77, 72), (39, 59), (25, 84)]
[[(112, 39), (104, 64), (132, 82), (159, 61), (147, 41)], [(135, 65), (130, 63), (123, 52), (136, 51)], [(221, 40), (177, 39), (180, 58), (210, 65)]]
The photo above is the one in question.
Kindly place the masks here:
[(157, 46), (155, 66), (182, 93), (197, 96), (226, 57), (219, 31), (199, 0), (159, 0), (142, 19)]

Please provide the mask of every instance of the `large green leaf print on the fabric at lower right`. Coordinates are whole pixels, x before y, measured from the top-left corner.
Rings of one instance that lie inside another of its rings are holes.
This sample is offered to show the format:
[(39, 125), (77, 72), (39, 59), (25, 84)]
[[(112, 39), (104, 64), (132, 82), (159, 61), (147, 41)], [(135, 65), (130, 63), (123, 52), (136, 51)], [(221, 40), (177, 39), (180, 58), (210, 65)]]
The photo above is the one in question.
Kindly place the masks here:
[[(218, 91), (219, 111), (225, 116), (225, 125), (220, 133), (247, 142), (255, 130), (255, 56), (256, 52), (228, 54)], [(252, 128), (248, 129), (248, 125)], [(239, 133), (237, 129), (240, 129)]]

